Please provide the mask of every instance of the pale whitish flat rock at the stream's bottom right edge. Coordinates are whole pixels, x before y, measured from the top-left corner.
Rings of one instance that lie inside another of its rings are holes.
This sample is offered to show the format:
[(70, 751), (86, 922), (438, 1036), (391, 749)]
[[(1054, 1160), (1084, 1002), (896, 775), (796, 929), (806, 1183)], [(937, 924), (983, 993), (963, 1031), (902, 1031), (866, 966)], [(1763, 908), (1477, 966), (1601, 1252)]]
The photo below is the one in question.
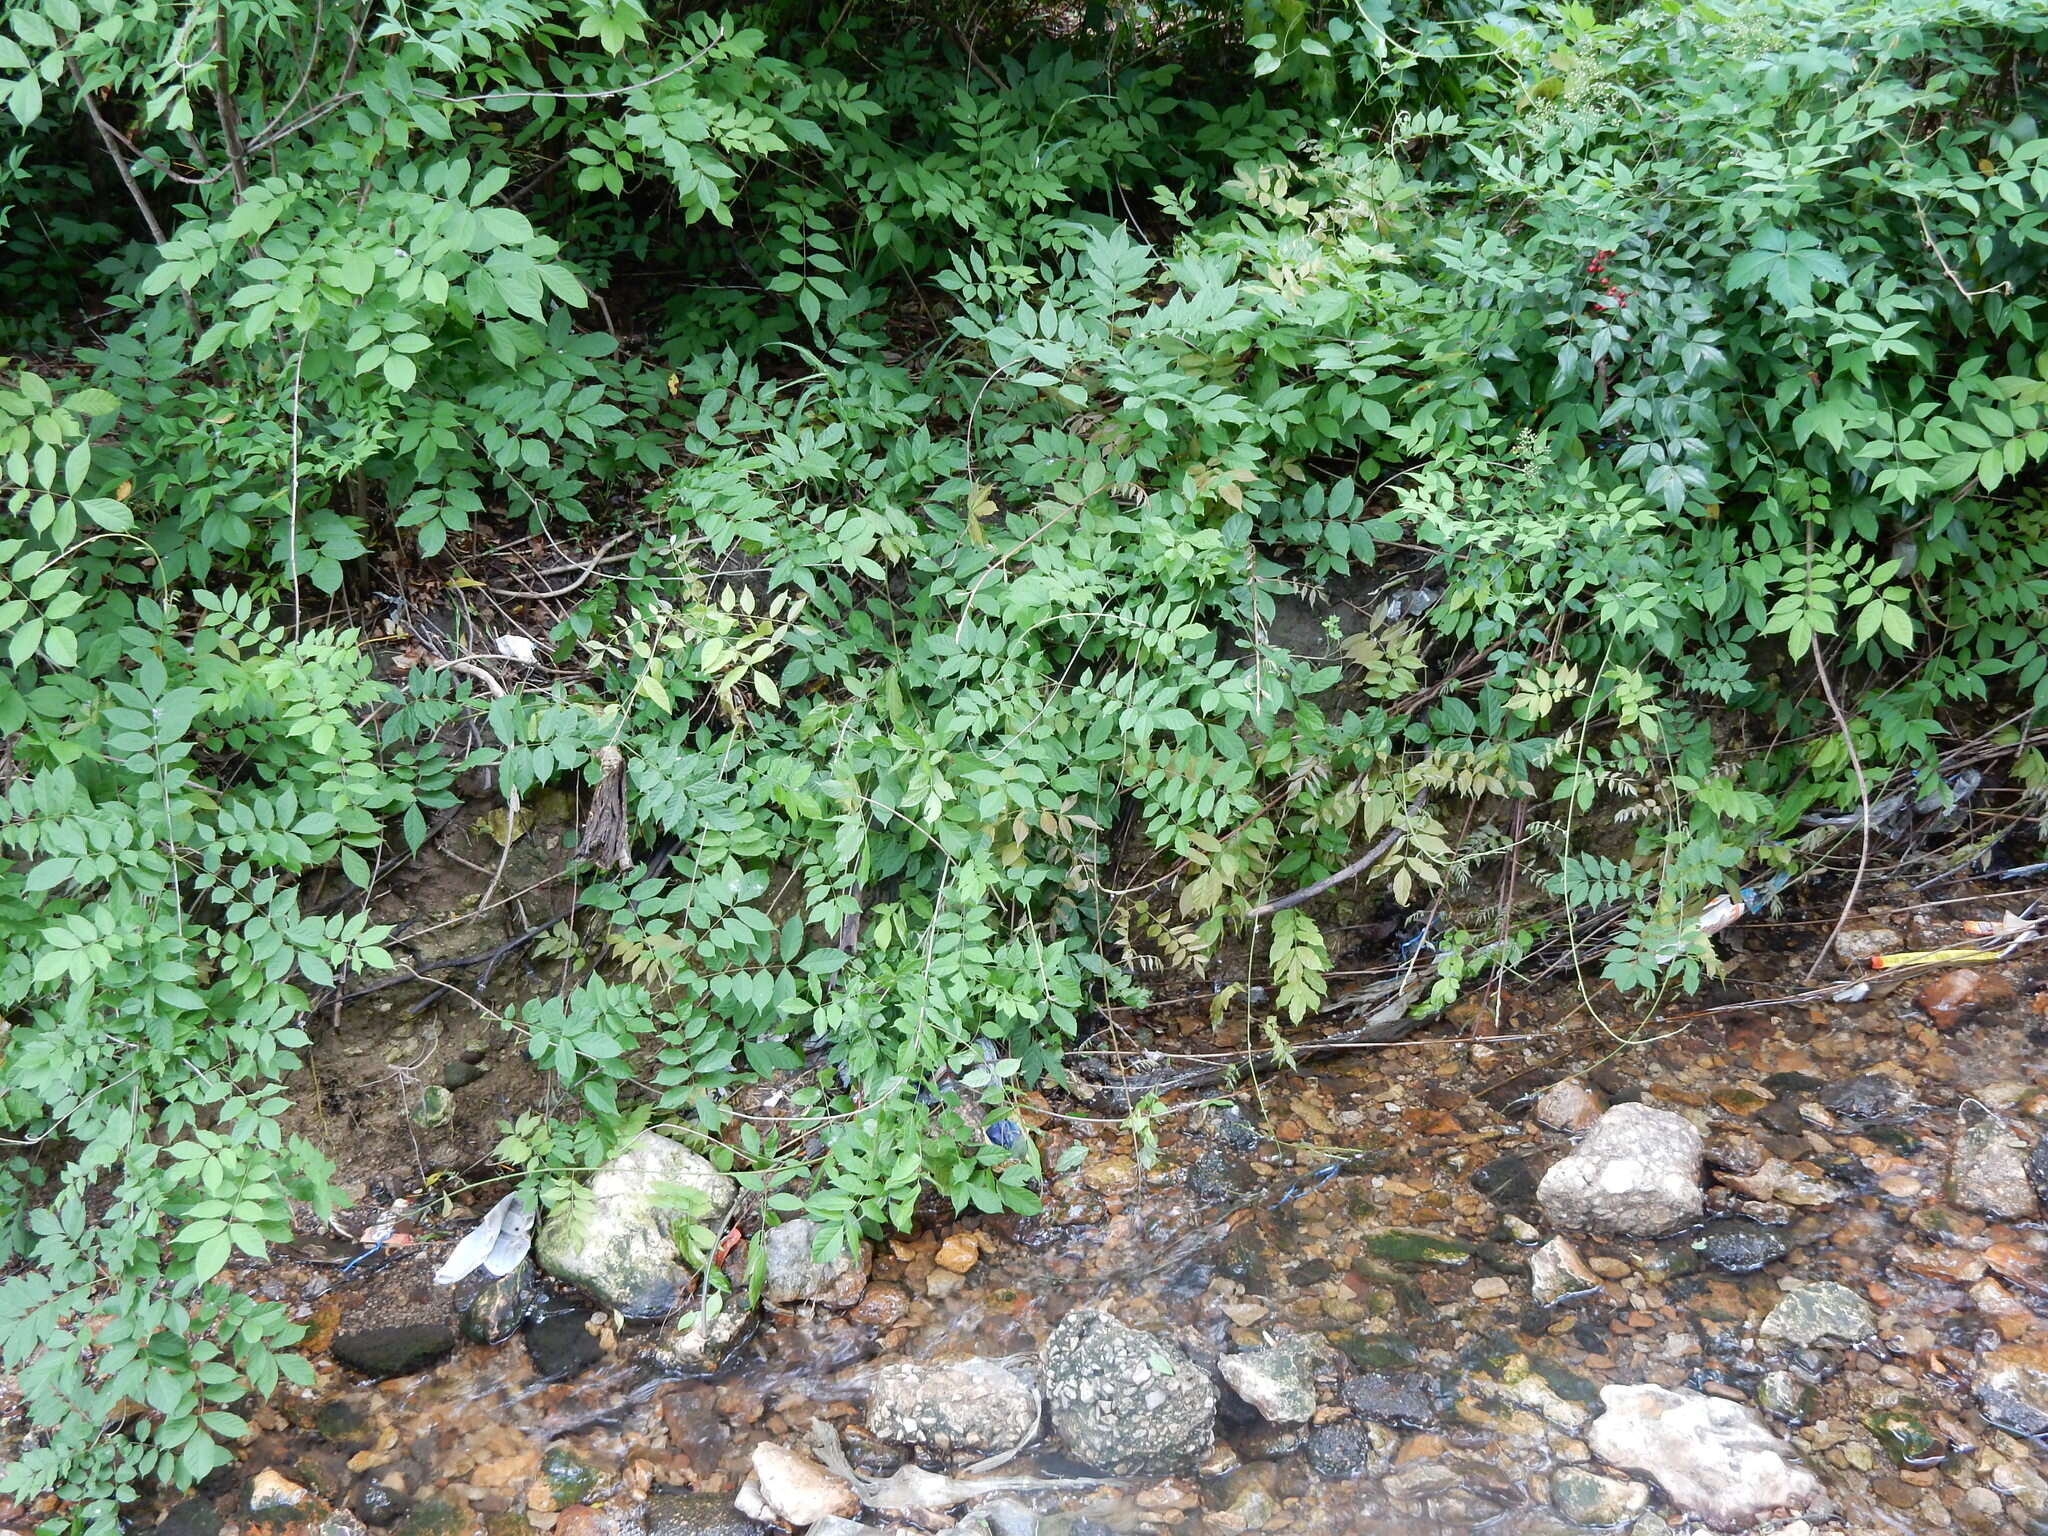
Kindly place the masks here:
[(1749, 1530), (1772, 1509), (1823, 1501), (1819, 1479), (1751, 1407), (1669, 1386), (1606, 1386), (1599, 1401), (1606, 1411), (1585, 1432), (1593, 1454), (1649, 1475), (1714, 1530)]

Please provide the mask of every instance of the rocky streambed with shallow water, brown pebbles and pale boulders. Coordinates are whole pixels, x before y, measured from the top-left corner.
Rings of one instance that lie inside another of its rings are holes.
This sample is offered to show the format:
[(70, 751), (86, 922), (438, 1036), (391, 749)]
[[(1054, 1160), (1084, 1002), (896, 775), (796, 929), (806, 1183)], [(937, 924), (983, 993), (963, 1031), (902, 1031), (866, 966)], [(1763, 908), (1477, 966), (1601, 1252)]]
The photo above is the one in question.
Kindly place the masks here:
[(322, 1384), (166, 1536), (2048, 1532), (2048, 969), (1612, 1004), (1462, 1004), (1151, 1165), (1042, 1102), (1042, 1214), (831, 1262), (791, 1223), (709, 1325), (649, 1194), (731, 1190), (657, 1135), (539, 1270), (279, 1270)]

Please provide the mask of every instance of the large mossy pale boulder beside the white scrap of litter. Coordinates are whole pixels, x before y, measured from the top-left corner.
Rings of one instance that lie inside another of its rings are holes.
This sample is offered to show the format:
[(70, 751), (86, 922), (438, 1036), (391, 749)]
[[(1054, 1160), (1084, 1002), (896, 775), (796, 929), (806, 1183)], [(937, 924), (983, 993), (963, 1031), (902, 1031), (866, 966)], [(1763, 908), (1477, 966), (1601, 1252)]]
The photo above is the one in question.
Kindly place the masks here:
[(737, 1186), (688, 1147), (643, 1130), (592, 1176), (582, 1198), (543, 1223), (535, 1260), (612, 1311), (659, 1317), (690, 1282), (676, 1262), (676, 1223), (715, 1227), (735, 1194)]

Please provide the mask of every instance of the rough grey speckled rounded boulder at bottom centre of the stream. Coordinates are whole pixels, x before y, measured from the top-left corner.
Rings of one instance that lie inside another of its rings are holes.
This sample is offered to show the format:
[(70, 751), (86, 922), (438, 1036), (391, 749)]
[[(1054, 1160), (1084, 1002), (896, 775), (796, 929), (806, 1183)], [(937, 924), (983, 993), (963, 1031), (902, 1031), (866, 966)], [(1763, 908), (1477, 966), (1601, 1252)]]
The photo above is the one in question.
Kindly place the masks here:
[(1096, 1307), (1067, 1313), (1044, 1341), (1053, 1432), (1104, 1473), (1171, 1473), (1214, 1444), (1217, 1389), (1167, 1339)]

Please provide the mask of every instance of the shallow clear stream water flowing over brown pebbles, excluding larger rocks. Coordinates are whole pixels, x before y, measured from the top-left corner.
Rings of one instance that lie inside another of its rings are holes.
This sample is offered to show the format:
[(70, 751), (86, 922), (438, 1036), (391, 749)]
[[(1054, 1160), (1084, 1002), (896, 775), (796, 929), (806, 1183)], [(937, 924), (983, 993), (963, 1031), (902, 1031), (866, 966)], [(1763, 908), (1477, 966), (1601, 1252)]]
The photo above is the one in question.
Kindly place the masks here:
[[(1972, 915), (1997, 905), (1886, 922), (1933, 948)], [(1796, 993), (1810, 942), (1800, 930), (1737, 934), (1718, 1001)], [(1823, 981), (1853, 979), (1827, 958)], [(1348, 1409), (1276, 1427), (1225, 1391), (1206, 1464), (1034, 1499), (1071, 1532), (1554, 1536), (1573, 1528), (1552, 1509), (1552, 1473), (1593, 1460), (1583, 1434), (1599, 1386), (1661, 1382), (1753, 1403), (1759, 1389), (1769, 1395), (1769, 1372), (1784, 1372), (1772, 1423), (1833, 1505), (1808, 1528), (2048, 1530), (2048, 1458), (1989, 1425), (1970, 1395), (1987, 1350), (2048, 1339), (2048, 1231), (1974, 1214), (1968, 1190), (1946, 1188), (1968, 1106), (1989, 1106), (2028, 1143), (2048, 1124), (2048, 967), (2021, 950), (1989, 971), (1982, 1001), (1956, 1012), (1917, 1001), (1921, 981), (1858, 1004), (1692, 1004), (1663, 1020), (1569, 985), (1487, 995), (1415, 1040), (1219, 1092), (1169, 1116), (1145, 1159), (1110, 1116), (1042, 1104), (1047, 1165), (1073, 1145), (1085, 1151), (1049, 1182), (1042, 1214), (881, 1243), (858, 1307), (770, 1311), (717, 1378), (655, 1374), (635, 1331), (602, 1319), (565, 1380), (541, 1380), (520, 1339), (465, 1346), (375, 1384), (324, 1360), (319, 1391), (270, 1409), (240, 1470), (272, 1466), (401, 1536), (602, 1536), (623, 1530), (621, 1511), (649, 1489), (731, 1493), (760, 1440), (795, 1442), (813, 1417), (840, 1425), (856, 1466), (887, 1473), (901, 1452), (860, 1423), (877, 1366), (965, 1356), (1028, 1366), (1063, 1315), (1096, 1305), (1204, 1366), (1288, 1331), (1321, 1335), (1354, 1370), (1421, 1372), (1434, 1421), (1403, 1430), (1391, 1466), (1368, 1468), (1356, 1436), (1323, 1434)], [(1630, 1036), (1645, 1042), (1624, 1044)], [(1837, 1085), (1866, 1075), (1896, 1090), (1882, 1114), (1853, 1120), (1823, 1106), (1829, 1096), (1853, 1106)], [(1530, 1104), (1563, 1077), (1700, 1124), (1708, 1214), (1741, 1214), (1743, 1241), (1583, 1239), (1597, 1288), (1536, 1305), (1528, 1262), (1550, 1233), (1532, 1188), (1571, 1137), (1538, 1126)], [(1796, 1176), (1786, 1198), (1745, 1202), (1714, 1176), (1716, 1149), (1737, 1141)], [(954, 1268), (936, 1264), (948, 1241)], [(1731, 1251), (1747, 1266), (1780, 1247), (1753, 1272), (1716, 1268)], [(348, 1276), (287, 1268), (266, 1288), (297, 1288), (299, 1305), (326, 1307), (332, 1323), (391, 1286), (381, 1262)], [(1866, 1296), (1876, 1339), (1759, 1343), (1757, 1323), (1815, 1280)], [(1008, 1470), (1020, 1466), (1083, 1470), (1044, 1446)], [(367, 1501), (369, 1485), (389, 1497)], [(231, 1518), (236, 1497), (221, 1485), (215, 1505)], [(1653, 1497), (1634, 1530), (1679, 1524)]]

